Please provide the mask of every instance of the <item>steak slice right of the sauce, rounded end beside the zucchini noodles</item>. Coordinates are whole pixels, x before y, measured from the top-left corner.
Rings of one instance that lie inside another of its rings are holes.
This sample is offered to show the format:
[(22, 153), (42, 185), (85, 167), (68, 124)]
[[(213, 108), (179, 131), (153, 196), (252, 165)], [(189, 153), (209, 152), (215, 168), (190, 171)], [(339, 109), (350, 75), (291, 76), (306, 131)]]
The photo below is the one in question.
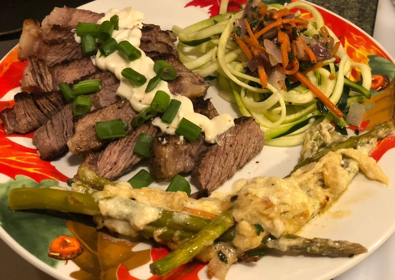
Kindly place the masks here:
[(207, 83), (200, 74), (186, 68), (174, 54), (157, 54), (152, 52), (147, 55), (154, 61), (165, 60), (175, 68), (177, 78), (174, 81), (168, 81), (169, 90), (172, 94), (182, 94), (190, 99), (206, 94), (209, 83)]

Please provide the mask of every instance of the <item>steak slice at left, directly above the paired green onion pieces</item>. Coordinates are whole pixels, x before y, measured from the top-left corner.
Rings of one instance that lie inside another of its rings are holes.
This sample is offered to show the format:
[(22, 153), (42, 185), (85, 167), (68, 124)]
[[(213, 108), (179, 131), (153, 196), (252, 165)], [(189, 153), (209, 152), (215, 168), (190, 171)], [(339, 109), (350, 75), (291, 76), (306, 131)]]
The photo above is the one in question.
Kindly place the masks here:
[(59, 90), (59, 83), (71, 83), (99, 70), (90, 58), (65, 60), (53, 66), (48, 66), (43, 60), (34, 57), (29, 57), (28, 61), (21, 81), (22, 90), (27, 92)]

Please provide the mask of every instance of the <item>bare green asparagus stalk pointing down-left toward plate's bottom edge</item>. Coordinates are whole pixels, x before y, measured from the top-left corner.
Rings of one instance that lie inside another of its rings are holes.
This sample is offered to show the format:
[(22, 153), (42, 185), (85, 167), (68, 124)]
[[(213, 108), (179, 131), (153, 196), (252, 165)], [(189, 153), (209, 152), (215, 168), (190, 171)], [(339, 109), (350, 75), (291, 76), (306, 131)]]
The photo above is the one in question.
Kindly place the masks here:
[(189, 239), (178, 249), (174, 250), (166, 257), (150, 264), (152, 274), (164, 275), (176, 267), (187, 263), (196, 256), (201, 249), (210, 246), (225, 231), (235, 224), (232, 213), (226, 212), (205, 226), (195, 237)]

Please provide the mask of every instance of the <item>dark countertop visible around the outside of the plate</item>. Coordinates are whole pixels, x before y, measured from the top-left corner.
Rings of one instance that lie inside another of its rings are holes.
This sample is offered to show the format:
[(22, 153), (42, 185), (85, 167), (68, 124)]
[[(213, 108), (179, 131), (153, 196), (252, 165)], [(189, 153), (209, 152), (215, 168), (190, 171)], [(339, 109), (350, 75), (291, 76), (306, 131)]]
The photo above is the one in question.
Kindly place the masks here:
[[(89, 1), (72, 0), (58, 1), (45, 0), (40, 1), (7, 1), (6, 7), (2, 8), (0, 17), (0, 32), (14, 30), (21, 27), (23, 20), (33, 18), (41, 21), (43, 17), (52, 10), (54, 6), (67, 5), (69, 7), (81, 6)], [(374, 20), (378, 0), (348, 0), (348, 1), (327, 1), (311, 0), (319, 6), (333, 11), (340, 16), (348, 19), (352, 23), (361, 27), (368, 34), (373, 34)], [(22, 10), (22, 11), (21, 11)], [(14, 47), (18, 41), (20, 32), (8, 35), (0, 35), (0, 57), (3, 57), (9, 50)], [(30, 263), (18, 256), (11, 250), (4, 241), (0, 240), (0, 280), (53, 280), (51, 276), (36, 269)]]

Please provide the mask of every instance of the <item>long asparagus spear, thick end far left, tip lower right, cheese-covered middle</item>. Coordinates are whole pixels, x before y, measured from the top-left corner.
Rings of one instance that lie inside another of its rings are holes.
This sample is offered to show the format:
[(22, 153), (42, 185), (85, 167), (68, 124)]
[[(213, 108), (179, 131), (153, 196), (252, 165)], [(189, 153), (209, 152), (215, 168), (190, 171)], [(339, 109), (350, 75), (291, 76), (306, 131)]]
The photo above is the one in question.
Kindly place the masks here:
[[(87, 215), (100, 214), (98, 202), (89, 194), (70, 192), (66, 190), (56, 190), (51, 188), (16, 188), (9, 192), (9, 208), (11, 210), (25, 209), (49, 209), (62, 212), (74, 212)], [(166, 211), (166, 210), (165, 210)], [(173, 214), (170, 214), (173, 213)], [(153, 237), (154, 231), (161, 229), (162, 233), (158, 235), (163, 241), (183, 241), (193, 238), (197, 232), (207, 226), (211, 220), (181, 213), (182, 219), (177, 218), (177, 212), (166, 211), (166, 214), (160, 215), (159, 221), (152, 222), (140, 231), (144, 237)], [(196, 219), (197, 218), (197, 219)], [(173, 221), (169, 221), (173, 219)], [(188, 227), (182, 230), (184, 224), (196, 222), (195, 227)], [(188, 231), (190, 229), (190, 231)], [(192, 232), (193, 230), (193, 232)], [(230, 242), (235, 234), (234, 227), (229, 228), (224, 234), (220, 235), (220, 241)], [(289, 250), (297, 252), (309, 252), (312, 254), (321, 254), (330, 257), (345, 257), (351, 254), (361, 254), (366, 252), (365, 247), (350, 243), (347, 241), (331, 241), (330, 239), (306, 239), (297, 235), (286, 235), (275, 239), (274, 237), (263, 240), (262, 246), (253, 249), (254, 251), (264, 252), (269, 246), (278, 248), (284, 239), (294, 239), (293, 246)], [(303, 241), (303, 242), (302, 242)], [(284, 242), (283, 242), (284, 243)], [(248, 254), (248, 252), (246, 252)]]

